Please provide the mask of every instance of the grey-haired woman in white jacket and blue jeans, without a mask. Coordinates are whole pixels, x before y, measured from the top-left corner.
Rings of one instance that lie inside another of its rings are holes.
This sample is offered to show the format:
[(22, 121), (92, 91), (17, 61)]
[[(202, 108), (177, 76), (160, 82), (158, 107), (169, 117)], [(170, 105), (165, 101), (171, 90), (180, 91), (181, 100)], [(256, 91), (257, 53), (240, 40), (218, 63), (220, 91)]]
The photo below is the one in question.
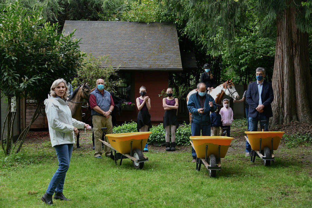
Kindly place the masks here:
[(41, 200), (48, 205), (53, 204), (54, 199), (69, 201), (63, 195), (64, 180), (71, 160), (71, 152), (75, 143), (74, 133), (78, 134), (78, 128), (89, 129), (90, 126), (71, 117), (71, 110), (65, 102), (68, 96), (66, 81), (55, 80), (51, 86), (50, 98), (44, 101), (46, 105), (46, 117), (48, 119), (49, 133), (52, 147), (56, 151), (59, 167), (54, 173), (46, 193)]

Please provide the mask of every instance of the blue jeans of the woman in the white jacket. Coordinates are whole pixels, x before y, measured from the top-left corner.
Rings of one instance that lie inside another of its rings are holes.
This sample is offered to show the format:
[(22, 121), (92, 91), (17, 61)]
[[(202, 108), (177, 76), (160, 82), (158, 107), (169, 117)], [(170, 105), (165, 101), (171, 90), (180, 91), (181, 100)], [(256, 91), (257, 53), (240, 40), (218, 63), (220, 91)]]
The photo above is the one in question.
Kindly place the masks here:
[(69, 168), (69, 162), (71, 161), (73, 144), (56, 145), (54, 149), (56, 151), (59, 167), (52, 176), (48, 189), (46, 190), (46, 193), (50, 195), (53, 195), (54, 192), (63, 192), (66, 172)]

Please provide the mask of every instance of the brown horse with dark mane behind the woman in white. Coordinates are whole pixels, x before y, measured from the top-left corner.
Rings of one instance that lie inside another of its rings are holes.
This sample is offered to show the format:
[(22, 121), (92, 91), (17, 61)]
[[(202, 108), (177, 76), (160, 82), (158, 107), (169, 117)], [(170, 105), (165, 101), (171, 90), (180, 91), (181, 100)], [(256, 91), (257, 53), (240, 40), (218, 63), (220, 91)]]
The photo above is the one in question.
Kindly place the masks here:
[[(73, 92), (73, 94), (69, 97), (67, 101), (67, 105), (71, 109), (72, 118), (81, 121), (82, 120), (82, 104), (87, 103), (89, 100), (89, 96), (91, 93), (90, 87), (87, 85), (88, 83), (84, 83), (79, 85)], [(84, 101), (86, 100), (86, 101)], [(77, 135), (77, 148), (79, 146), (79, 133)]]

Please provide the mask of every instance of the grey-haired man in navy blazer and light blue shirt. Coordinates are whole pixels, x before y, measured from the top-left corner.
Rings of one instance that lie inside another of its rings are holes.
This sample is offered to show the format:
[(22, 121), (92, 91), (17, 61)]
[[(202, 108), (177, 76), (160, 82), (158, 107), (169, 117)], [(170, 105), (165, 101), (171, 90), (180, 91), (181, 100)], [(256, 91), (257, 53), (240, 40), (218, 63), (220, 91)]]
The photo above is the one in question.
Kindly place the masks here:
[[(272, 84), (266, 80), (266, 70), (256, 69), (256, 81), (248, 85), (246, 102), (249, 104), (249, 128), (248, 131), (257, 131), (258, 122), (266, 121), (264, 130), (269, 131), (269, 118), (273, 116), (271, 103), (273, 102)], [(245, 157), (250, 156), (251, 147), (246, 141)]]

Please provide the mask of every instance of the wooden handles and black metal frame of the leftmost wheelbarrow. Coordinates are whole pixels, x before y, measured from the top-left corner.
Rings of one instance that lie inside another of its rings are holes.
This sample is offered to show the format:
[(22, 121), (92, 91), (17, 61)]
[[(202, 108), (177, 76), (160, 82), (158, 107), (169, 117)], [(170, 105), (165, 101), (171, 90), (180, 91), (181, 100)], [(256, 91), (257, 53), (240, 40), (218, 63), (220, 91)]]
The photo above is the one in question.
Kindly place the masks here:
[[(106, 130), (106, 129), (107, 129), (107, 128), (101, 128), (102, 132), (104, 133), (104, 136), (105, 136), (105, 134), (106, 134), (106, 133), (105, 133), (105, 130)], [(140, 164), (140, 165), (138, 165), (138, 167), (136, 167), (136, 166), (134, 165), (135, 168), (137, 168), (137, 169), (142, 169), (142, 168), (143, 168), (143, 165), (144, 165), (144, 162), (149, 161), (149, 158), (146, 157), (146, 156), (143, 154), (143, 144), (142, 144), (143, 139), (141, 140), (141, 150), (140, 150), (140, 151), (142, 152), (143, 157), (144, 157), (144, 158), (142, 158), (142, 159), (138, 159), (138, 158), (135, 158), (135, 157), (132, 156), (132, 153), (133, 153), (133, 150), (132, 150), (132, 141), (130, 142), (130, 152), (129, 152), (129, 153), (124, 153), (124, 154), (122, 154), (122, 153), (120, 153), (120, 152), (117, 152), (117, 150), (116, 150), (115, 148), (113, 148), (113, 147), (110, 145), (110, 143), (105, 142), (105, 141), (103, 141), (103, 140), (101, 140), (101, 139), (99, 139), (99, 141), (102, 142), (104, 145), (108, 146), (109, 148), (111, 148), (112, 150), (114, 150), (114, 155), (112, 155), (112, 153), (111, 153), (110, 158), (112, 158), (112, 159), (115, 161), (115, 164), (116, 164), (116, 165), (117, 165), (117, 160), (120, 159), (120, 162), (119, 162), (119, 166), (120, 166), (120, 165), (121, 165), (121, 162), (122, 162), (122, 159), (129, 158), (130, 160), (134, 161), (135, 163)]]

